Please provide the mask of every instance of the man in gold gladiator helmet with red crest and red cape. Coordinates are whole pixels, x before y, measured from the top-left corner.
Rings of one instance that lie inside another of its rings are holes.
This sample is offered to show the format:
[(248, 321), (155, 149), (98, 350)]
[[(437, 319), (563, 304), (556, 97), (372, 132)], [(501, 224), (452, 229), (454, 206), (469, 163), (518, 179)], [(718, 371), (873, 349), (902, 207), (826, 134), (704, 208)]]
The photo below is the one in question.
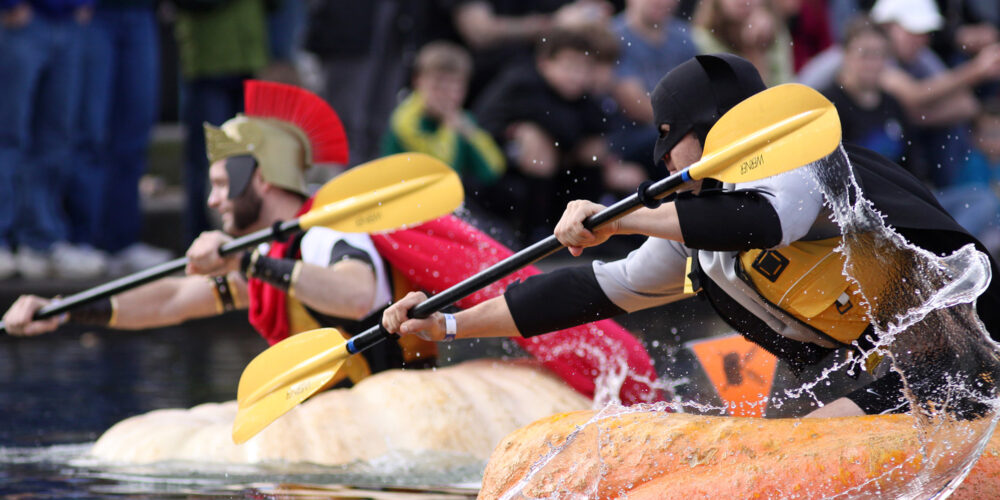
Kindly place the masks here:
[[(245, 110), (220, 127), (205, 126), (212, 183), (208, 204), (221, 216), (223, 231), (203, 233), (191, 245), (188, 276), (161, 279), (53, 320), (32, 321), (49, 301), (24, 296), (4, 316), (8, 330), (36, 335), (66, 321), (142, 329), (247, 309), (250, 323), (272, 344), (319, 327), (337, 328), (346, 337), (377, 322), (394, 296), (417, 288), (443, 290), (510, 255), (488, 235), (446, 216), (374, 235), (313, 227), (239, 257), (220, 257), (219, 246), (234, 236), (309, 210), (305, 172), (311, 164), (347, 162), (340, 121), (319, 97), (288, 85), (248, 81)], [(427, 272), (430, 268), (435, 271)], [(515, 276), (535, 272), (524, 269)], [(472, 306), (500, 290), (481, 290), (457, 305)], [(594, 331), (601, 332), (600, 339), (591, 336)], [(567, 345), (592, 356), (580, 358)], [(587, 396), (594, 395), (595, 381), (606, 368), (602, 363), (621, 359), (630, 368), (618, 391), (622, 402), (660, 397), (650, 388), (656, 373), (649, 354), (613, 322), (521, 346)], [(345, 386), (370, 373), (429, 367), (436, 360), (437, 344), (406, 336), (351, 357), (337, 379)]]

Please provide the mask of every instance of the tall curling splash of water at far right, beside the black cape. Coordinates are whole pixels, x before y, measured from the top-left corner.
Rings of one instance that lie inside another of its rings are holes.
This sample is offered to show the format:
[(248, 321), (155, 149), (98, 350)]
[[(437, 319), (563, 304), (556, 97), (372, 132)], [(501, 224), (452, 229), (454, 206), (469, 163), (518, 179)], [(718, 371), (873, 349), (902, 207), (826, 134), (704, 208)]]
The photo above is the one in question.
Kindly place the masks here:
[(887, 227), (861, 195), (843, 149), (811, 171), (844, 236), (844, 273), (858, 285), (874, 327), (874, 347), (859, 349), (854, 368), (882, 358), (883, 372), (900, 375), (921, 438), (916, 480), (885, 493), (944, 498), (972, 468), (1000, 408), (1000, 351), (974, 306), (990, 281), (989, 260), (972, 245), (940, 257)]

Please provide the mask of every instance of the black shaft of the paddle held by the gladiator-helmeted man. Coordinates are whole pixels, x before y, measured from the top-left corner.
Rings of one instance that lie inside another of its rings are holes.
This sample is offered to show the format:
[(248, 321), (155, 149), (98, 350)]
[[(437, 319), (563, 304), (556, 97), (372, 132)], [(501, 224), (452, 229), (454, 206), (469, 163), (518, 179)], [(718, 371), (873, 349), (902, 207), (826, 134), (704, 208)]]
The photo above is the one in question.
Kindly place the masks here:
[[(246, 248), (250, 248), (266, 241), (271, 241), (274, 239), (280, 239), (294, 231), (299, 230), (299, 220), (290, 220), (285, 222), (276, 222), (273, 226), (267, 229), (261, 229), (260, 231), (253, 232), (246, 236), (241, 236), (236, 238), (225, 245), (219, 247), (219, 255), (229, 255)], [(62, 314), (67, 311), (72, 311), (80, 306), (90, 304), (97, 300), (103, 299), (105, 297), (110, 297), (117, 293), (124, 292), (126, 290), (131, 290), (140, 285), (144, 285), (151, 281), (156, 281), (160, 278), (169, 276), (181, 271), (187, 265), (187, 257), (181, 257), (179, 259), (174, 259), (170, 262), (164, 262), (163, 264), (153, 266), (149, 269), (144, 269), (134, 274), (128, 276), (123, 276), (116, 280), (109, 281), (103, 285), (95, 286), (84, 290), (79, 293), (75, 293), (66, 298), (56, 300), (49, 305), (39, 309), (35, 312), (34, 319), (46, 319)], [(0, 332), (6, 332), (3, 323), (0, 322)]]

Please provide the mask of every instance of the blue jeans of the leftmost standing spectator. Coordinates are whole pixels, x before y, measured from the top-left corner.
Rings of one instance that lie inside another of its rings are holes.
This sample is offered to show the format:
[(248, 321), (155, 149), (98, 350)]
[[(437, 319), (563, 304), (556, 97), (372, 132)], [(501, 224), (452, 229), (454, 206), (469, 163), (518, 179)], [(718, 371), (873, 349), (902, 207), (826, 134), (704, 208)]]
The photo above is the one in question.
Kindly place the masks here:
[(59, 192), (74, 168), (82, 33), (37, 13), (0, 28), (0, 245), (44, 251), (66, 240)]

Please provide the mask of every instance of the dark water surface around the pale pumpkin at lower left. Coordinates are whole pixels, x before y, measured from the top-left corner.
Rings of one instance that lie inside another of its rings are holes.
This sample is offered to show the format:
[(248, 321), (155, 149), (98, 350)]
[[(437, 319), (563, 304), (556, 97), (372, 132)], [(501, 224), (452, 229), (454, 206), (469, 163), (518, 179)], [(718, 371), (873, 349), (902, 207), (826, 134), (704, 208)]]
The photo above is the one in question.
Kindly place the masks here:
[[(264, 348), (240, 314), (143, 332), (65, 328), (31, 339), (0, 337), (0, 497), (475, 496), (483, 464), (441, 457), (418, 457), (427, 467), (416, 471), (395, 464), (377, 471), (371, 464), (112, 466), (87, 458), (90, 445), (124, 418), (234, 399), (243, 368)], [(412, 468), (408, 458), (399, 463)]]

